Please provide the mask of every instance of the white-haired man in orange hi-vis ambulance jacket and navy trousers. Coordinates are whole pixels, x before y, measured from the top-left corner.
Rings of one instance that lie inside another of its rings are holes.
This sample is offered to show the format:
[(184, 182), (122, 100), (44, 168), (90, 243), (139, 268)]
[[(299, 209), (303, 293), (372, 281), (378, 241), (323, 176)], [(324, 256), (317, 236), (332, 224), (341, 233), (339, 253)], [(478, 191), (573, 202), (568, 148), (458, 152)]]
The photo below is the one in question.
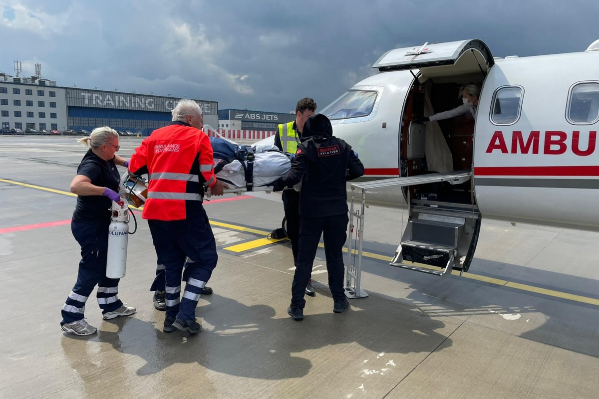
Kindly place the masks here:
[[(181, 100), (172, 111), (173, 123), (154, 130), (141, 142), (129, 162), (129, 175), (147, 173), (149, 185), (141, 217), (148, 220), (158, 264), (165, 268), (167, 315), (163, 331), (196, 334), (195, 307), (218, 255), (208, 216), (202, 206), (205, 187), (222, 195), (226, 184), (214, 175), (210, 139), (202, 132), (202, 109)], [(186, 284), (181, 292), (181, 272)]]

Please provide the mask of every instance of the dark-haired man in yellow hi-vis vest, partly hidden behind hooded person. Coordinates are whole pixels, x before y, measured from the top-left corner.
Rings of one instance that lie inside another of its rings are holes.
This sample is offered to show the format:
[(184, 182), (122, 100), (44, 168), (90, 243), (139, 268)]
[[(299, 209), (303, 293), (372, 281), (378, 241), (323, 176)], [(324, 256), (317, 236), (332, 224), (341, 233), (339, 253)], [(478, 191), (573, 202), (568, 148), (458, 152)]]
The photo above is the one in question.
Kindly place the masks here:
[[(277, 135), (274, 137), (274, 145), (285, 153), (295, 154), (298, 142), (301, 141), (301, 132), (304, 123), (316, 111), (316, 102), (311, 98), (302, 98), (295, 106), (295, 121), (280, 124)], [(299, 192), (295, 190), (283, 190), (283, 210), (285, 211), (286, 231), (291, 240), (291, 252), (294, 254), (294, 265), (298, 258), (298, 234), (299, 234)], [(305, 293), (314, 296), (312, 282), (308, 281)]]

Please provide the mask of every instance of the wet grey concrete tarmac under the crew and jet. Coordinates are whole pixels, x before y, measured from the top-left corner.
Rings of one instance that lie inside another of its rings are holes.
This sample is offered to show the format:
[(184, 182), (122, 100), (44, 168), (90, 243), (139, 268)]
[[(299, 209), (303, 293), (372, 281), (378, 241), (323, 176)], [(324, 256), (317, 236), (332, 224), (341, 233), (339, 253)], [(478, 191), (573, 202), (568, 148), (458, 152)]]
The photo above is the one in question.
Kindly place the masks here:
[[(140, 141), (122, 138), (119, 154)], [(334, 314), (319, 250), (316, 297), (295, 322), (289, 243), (256, 241), (280, 226), (276, 193), (205, 202), (219, 264), (196, 309), (202, 333), (162, 332), (140, 215), (119, 285), (137, 313), (104, 321), (92, 293), (85, 315), (98, 333), (63, 333), (80, 260), (68, 190), (85, 151), (71, 137), (0, 136), (0, 397), (599, 396), (599, 234), (486, 220), (470, 273), (438, 278), (389, 266), (407, 211), (371, 206), (369, 297)]]

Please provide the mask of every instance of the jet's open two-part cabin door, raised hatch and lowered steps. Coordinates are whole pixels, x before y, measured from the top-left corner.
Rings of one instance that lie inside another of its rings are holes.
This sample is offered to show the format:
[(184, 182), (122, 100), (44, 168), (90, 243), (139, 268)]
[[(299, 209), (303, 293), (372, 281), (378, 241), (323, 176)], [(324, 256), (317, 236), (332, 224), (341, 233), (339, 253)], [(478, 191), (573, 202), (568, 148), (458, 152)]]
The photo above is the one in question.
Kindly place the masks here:
[[(381, 72), (414, 70), (412, 73), (420, 84), (427, 80), (432, 84), (462, 84), (471, 78), (483, 81), (493, 64), (494, 59), (486, 44), (473, 39), (391, 50), (383, 54), (373, 68)], [(415, 144), (423, 142), (423, 125), (407, 124), (409, 121), (409, 116), (404, 115), (407, 131), (403, 135), (407, 135), (407, 145), (402, 155), (408, 162), (414, 157), (421, 157), (422, 145)], [(410, 167), (406, 169), (412, 170)], [(436, 196), (416, 196), (414, 193), (422, 193), (423, 190), (410, 188), (422, 188), (431, 182), (446, 186), (465, 184), (472, 181), (471, 168), (443, 170), (441, 173), (408, 173), (398, 180), (401, 180), (398, 184), (407, 187), (410, 217), (391, 265), (443, 276), (454, 269), (467, 271), (480, 232), (481, 217), (474, 196), (465, 202), (463, 196), (461, 199), (437, 199)]]

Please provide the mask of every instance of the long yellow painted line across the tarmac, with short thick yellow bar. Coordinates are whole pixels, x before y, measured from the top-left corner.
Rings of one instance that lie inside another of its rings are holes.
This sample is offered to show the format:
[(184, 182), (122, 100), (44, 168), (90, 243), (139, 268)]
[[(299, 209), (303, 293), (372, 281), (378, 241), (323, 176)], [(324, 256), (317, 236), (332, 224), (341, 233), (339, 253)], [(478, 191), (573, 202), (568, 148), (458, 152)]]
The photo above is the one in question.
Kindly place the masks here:
[[(71, 196), (71, 197), (77, 196), (77, 194), (69, 193), (68, 191), (55, 190), (54, 188), (41, 187), (40, 185), (26, 184), (26, 183), (22, 183), (22, 182), (18, 182), (18, 181), (12, 181), (12, 180), (0, 178), (0, 182), (14, 184), (14, 185), (21, 185), (23, 187), (34, 188), (35, 190), (49, 191), (50, 193), (63, 194), (66, 196)], [(131, 205), (129, 205), (129, 208), (140, 209), (140, 210), (143, 209), (143, 208), (136, 208), (135, 206), (131, 206)], [(210, 224), (212, 224), (213, 226), (225, 227), (226, 229), (238, 230), (240, 232), (264, 234), (264, 235), (270, 234), (270, 232), (267, 232), (265, 230), (252, 229), (250, 227), (237, 226), (235, 224), (222, 223), (222, 222), (216, 222), (216, 221), (210, 221)], [(234, 252), (243, 252), (243, 251), (247, 251), (249, 249), (259, 248), (261, 246), (269, 245), (271, 243), (276, 243), (276, 242), (283, 241), (283, 240), (286, 240), (286, 239), (270, 240), (267, 238), (261, 238), (261, 239), (252, 240), (252, 241), (249, 241), (246, 243), (229, 246), (225, 249), (228, 249), (229, 251), (234, 251)], [(320, 248), (324, 248), (325, 245), (323, 243), (319, 243), (319, 246), (320, 246)], [(343, 251), (347, 252), (347, 249), (344, 248)], [(357, 254), (358, 250), (352, 249), (352, 252), (353, 252), (353, 254)], [(390, 256), (375, 254), (374, 252), (362, 251), (362, 256), (365, 256), (367, 258), (377, 259), (377, 260), (391, 261)], [(418, 265), (419, 267), (425, 267), (426, 269), (440, 270), (438, 267), (429, 266), (426, 264), (415, 263), (415, 265)], [(459, 276), (459, 272), (457, 270), (452, 270), (452, 275)], [(462, 275), (462, 277), (471, 279), (471, 280), (475, 280), (475, 281), (486, 282), (488, 284), (499, 285), (501, 287), (515, 288), (516, 290), (527, 291), (529, 293), (536, 293), (536, 294), (541, 294), (544, 296), (555, 297), (555, 298), (559, 298), (559, 299), (565, 299), (565, 300), (570, 300), (570, 301), (580, 302), (580, 303), (588, 303), (588, 304), (593, 304), (595, 306), (599, 306), (599, 299), (589, 298), (589, 297), (576, 295), (576, 294), (563, 293), (562, 291), (549, 290), (547, 288), (535, 287), (534, 285), (519, 284), (516, 282), (511, 282), (511, 281), (507, 281), (507, 280), (503, 280), (503, 279), (496, 279), (496, 278), (487, 277), (487, 276), (474, 275), (471, 273), (464, 273)]]

